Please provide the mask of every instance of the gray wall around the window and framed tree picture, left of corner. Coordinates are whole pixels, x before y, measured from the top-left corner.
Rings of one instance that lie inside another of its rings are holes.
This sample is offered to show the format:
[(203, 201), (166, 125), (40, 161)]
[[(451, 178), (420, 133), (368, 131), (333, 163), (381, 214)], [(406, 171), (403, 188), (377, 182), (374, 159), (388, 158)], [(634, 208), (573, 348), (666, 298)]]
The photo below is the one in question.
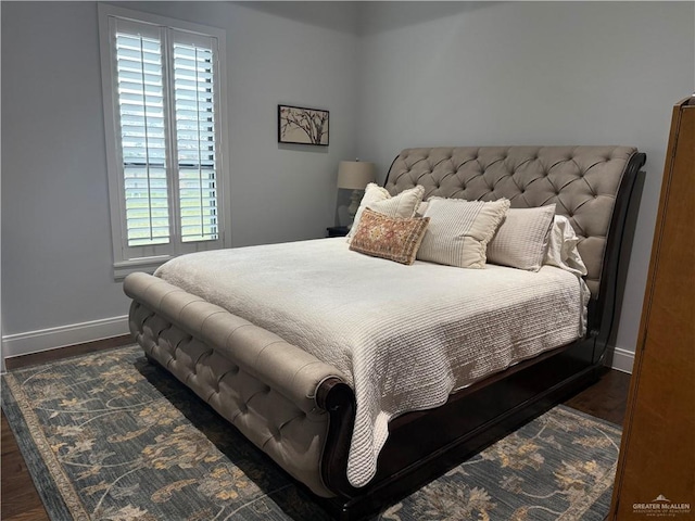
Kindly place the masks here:
[[(227, 30), (235, 246), (323, 237), (355, 155), (353, 4), (124, 2)], [(2, 2), (3, 357), (127, 332), (112, 272), (97, 7)], [(277, 104), (330, 145), (277, 143)]]

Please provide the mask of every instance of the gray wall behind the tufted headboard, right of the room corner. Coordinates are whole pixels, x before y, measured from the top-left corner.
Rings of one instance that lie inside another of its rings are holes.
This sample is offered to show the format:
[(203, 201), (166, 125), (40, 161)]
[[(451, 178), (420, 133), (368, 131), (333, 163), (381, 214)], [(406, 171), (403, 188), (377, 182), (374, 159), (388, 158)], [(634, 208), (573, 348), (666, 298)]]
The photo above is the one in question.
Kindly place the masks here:
[(672, 105), (693, 92), (692, 2), (366, 2), (359, 153), (629, 144), (646, 183), (617, 336), (630, 370)]

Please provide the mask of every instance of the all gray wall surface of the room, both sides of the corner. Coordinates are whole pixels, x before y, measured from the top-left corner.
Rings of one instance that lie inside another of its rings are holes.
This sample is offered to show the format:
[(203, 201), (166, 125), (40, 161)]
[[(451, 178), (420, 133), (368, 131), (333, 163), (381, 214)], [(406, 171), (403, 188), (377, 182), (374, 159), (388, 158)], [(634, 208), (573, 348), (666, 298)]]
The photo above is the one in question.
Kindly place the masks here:
[[(648, 177), (618, 335), (633, 351), (670, 111), (693, 90), (693, 3), (123, 5), (227, 29), (236, 246), (321, 237), (345, 158), (383, 176), (414, 145), (639, 147)], [(121, 331), (127, 300), (111, 268), (96, 4), (1, 10), (7, 356), (51, 346), (45, 329)], [(329, 109), (330, 147), (278, 145), (277, 103)]]

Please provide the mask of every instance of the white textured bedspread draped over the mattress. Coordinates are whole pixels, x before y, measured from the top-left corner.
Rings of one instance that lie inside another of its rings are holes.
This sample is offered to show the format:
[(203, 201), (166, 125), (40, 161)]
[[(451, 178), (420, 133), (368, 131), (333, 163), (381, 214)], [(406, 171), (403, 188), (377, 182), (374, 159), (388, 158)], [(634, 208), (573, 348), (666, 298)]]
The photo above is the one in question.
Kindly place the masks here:
[(391, 418), (584, 334), (577, 276), (488, 265), (404, 266), (344, 238), (175, 258), (156, 276), (333, 365), (356, 395), (348, 478), (365, 485)]

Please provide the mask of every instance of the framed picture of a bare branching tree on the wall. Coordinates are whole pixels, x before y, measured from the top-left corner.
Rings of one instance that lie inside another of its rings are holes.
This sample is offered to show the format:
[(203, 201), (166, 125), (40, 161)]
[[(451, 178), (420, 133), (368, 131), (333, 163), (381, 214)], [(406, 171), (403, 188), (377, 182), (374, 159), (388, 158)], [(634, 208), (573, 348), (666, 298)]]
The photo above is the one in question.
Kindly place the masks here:
[(278, 141), (328, 144), (328, 111), (278, 105)]

